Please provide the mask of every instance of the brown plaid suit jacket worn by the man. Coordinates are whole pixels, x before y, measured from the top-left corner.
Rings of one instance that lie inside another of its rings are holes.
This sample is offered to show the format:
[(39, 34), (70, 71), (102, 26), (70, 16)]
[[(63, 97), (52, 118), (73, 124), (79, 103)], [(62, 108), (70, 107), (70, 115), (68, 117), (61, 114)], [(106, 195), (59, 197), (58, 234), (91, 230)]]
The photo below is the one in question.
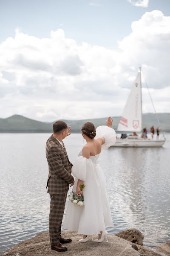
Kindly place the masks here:
[[(62, 147), (63, 145), (63, 147)], [(67, 193), (69, 184), (74, 181), (71, 175), (72, 163), (70, 162), (64, 143), (62, 145), (51, 135), (46, 143), (46, 157), (48, 162), (47, 193)]]

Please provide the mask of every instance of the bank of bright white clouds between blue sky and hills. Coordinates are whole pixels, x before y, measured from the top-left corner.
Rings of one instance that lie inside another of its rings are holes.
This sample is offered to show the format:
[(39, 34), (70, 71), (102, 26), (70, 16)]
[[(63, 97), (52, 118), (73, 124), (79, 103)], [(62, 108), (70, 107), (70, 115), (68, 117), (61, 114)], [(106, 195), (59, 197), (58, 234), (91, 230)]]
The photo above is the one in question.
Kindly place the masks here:
[[(132, 23), (119, 49), (65, 37), (62, 29), (49, 38), (16, 30), (0, 44), (0, 117), (14, 113), (53, 121), (122, 114), (139, 65), (158, 112), (170, 109), (170, 17), (146, 12)], [(143, 110), (153, 111), (143, 88)]]

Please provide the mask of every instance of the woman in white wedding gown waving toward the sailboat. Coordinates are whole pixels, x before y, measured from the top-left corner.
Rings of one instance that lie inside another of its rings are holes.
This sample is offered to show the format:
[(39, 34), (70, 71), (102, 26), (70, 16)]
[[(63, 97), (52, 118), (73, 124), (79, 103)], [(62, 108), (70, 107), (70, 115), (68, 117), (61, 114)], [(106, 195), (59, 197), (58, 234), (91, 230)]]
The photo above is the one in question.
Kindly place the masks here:
[(105, 177), (99, 166), (99, 155), (116, 142), (116, 133), (111, 128), (113, 119), (108, 117), (106, 126), (95, 126), (86, 122), (82, 126), (82, 136), (86, 145), (79, 152), (79, 157), (72, 167), (72, 174), (76, 177), (73, 192), (82, 195), (80, 184), (85, 184), (83, 189), (84, 206), (78, 206), (71, 201), (65, 215), (64, 228), (78, 230), (83, 234), (79, 242), (88, 241), (89, 235), (99, 235), (95, 242), (107, 240), (106, 227), (113, 226), (111, 210), (106, 192)]

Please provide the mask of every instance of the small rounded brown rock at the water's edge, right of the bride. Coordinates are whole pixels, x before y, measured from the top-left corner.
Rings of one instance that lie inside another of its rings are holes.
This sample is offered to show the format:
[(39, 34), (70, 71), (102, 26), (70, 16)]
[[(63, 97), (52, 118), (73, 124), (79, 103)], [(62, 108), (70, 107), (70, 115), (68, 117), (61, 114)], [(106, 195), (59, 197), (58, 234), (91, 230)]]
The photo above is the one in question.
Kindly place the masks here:
[(144, 236), (136, 228), (123, 230), (122, 232), (115, 234), (115, 236), (119, 236), (120, 238), (130, 241), (133, 244), (143, 245)]

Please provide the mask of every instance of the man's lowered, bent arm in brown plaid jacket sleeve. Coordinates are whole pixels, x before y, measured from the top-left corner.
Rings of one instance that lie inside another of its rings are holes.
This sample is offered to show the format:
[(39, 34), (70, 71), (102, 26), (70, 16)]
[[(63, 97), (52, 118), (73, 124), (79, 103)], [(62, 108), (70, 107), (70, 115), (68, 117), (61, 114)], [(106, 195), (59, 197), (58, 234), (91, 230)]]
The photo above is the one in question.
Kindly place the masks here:
[(74, 182), (74, 177), (65, 169), (62, 164), (61, 157), (56, 151), (50, 150), (48, 152), (48, 160), (51, 163), (52, 168), (56, 174), (65, 180), (65, 182), (71, 184)]

